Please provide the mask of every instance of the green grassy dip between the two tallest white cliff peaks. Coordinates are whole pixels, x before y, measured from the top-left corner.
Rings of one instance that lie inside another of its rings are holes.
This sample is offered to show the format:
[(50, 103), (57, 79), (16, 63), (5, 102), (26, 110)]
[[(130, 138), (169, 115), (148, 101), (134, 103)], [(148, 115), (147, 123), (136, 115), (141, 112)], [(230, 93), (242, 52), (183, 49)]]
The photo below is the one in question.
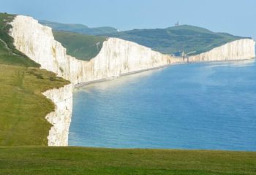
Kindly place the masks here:
[(105, 36), (91, 36), (66, 31), (53, 31), (54, 38), (67, 48), (67, 54), (83, 61), (89, 61), (102, 49)]

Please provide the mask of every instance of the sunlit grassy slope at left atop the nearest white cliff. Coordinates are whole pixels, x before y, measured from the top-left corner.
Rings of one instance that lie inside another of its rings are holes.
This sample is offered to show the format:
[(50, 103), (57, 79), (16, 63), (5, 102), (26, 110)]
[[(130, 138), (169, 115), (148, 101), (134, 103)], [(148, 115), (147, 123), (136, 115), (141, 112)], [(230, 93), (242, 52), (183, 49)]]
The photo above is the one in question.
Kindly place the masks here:
[(12, 18), (0, 13), (0, 145), (47, 145), (45, 115), (54, 104), (42, 92), (69, 82), (15, 50), (7, 33)]

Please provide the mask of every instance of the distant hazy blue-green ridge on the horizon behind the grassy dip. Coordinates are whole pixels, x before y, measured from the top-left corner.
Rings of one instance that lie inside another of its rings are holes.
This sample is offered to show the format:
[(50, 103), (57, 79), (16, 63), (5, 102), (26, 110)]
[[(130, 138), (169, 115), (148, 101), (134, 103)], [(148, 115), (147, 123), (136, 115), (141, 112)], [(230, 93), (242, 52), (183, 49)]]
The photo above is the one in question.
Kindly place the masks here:
[(47, 20), (39, 20), (39, 23), (45, 26), (53, 28), (55, 31), (71, 31), (80, 34), (89, 34), (89, 35), (102, 35), (102, 34), (111, 34), (117, 32), (116, 28), (112, 27), (98, 27), (98, 28), (89, 28), (83, 24), (63, 24), (63, 23), (54, 23)]

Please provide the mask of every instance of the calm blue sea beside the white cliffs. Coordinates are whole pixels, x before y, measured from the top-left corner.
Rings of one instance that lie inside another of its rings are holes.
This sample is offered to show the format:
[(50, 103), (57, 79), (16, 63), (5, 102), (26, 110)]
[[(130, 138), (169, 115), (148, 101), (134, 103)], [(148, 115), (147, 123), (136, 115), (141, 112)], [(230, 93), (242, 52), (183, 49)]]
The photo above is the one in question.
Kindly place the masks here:
[(256, 63), (193, 63), (75, 90), (69, 145), (256, 151)]

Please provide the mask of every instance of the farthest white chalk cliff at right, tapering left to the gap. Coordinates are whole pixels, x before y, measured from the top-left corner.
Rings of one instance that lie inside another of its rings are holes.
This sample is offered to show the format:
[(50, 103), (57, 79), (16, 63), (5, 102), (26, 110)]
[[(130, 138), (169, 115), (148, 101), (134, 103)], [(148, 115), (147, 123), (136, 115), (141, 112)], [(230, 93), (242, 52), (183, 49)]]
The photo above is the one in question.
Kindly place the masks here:
[(189, 62), (236, 61), (255, 58), (255, 41), (239, 39), (216, 47), (208, 52), (189, 57)]

